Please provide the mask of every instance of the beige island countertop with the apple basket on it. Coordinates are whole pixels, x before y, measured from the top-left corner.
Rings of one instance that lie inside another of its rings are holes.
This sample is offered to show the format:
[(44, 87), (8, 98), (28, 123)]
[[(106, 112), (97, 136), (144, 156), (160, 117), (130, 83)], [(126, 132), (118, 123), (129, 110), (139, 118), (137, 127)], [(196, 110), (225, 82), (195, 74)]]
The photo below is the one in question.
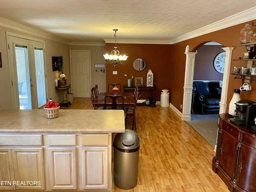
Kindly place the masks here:
[(0, 132), (124, 132), (122, 110), (60, 110), (46, 118), (44, 110), (0, 110)]

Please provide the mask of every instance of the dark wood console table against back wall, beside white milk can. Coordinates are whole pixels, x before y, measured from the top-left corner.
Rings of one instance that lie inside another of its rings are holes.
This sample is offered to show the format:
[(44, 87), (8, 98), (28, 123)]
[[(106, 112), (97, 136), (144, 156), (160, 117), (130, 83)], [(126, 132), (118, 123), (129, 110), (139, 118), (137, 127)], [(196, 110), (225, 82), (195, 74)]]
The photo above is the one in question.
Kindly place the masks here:
[[(142, 96), (142, 94), (144, 94), (145, 91), (151, 92), (151, 101), (150, 104), (146, 104), (146, 103), (137, 103), (137, 105), (146, 105), (146, 106), (156, 106), (156, 99), (155, 99), (155, 91), (156, 91), (156, 86), (153, 87), (147, 87), (147, 86), (137, 86), (139, 89), (139, 96), (138, 99), (145, 99), (145, 98), (140, 98), (140, 96)], [(127, 85), (123, 85), (123, 89), (124, 92), (129, 92), (129, 91), (133, 91), (136, 88), (136, 86), (130, 86), (128, 87)], [(147, 99), (147, 98), (146, 98)]]

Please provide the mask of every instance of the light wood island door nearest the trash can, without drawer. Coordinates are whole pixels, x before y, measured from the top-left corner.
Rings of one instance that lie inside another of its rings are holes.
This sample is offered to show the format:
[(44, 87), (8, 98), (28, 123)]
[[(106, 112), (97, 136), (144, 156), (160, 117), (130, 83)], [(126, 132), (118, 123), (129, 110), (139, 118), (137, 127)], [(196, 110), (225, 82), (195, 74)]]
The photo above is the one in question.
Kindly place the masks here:
[(108, 146), (82, 148), (82, 188), (108, 188)]

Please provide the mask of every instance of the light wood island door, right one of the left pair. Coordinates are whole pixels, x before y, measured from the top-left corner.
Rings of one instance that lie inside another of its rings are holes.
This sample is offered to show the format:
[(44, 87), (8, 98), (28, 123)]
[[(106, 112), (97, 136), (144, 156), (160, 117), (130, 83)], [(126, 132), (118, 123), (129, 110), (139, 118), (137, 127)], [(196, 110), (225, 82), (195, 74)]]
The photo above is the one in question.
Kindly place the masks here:
[(16, 189), (44, 190), (42, 148), (12, 148)]

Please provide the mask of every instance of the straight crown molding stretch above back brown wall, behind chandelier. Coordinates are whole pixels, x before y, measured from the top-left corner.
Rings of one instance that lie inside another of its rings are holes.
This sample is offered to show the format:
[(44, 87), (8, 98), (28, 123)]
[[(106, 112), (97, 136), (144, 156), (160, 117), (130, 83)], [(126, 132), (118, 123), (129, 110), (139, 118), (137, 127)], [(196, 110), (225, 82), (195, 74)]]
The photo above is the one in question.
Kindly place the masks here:
[[(115, 39), (103, 39), (105, 43), (115, 43)], [(116, 43), (123, 44), (172, 44), (170, 40), (142, 40), (142, 39), (118, 39)]]

